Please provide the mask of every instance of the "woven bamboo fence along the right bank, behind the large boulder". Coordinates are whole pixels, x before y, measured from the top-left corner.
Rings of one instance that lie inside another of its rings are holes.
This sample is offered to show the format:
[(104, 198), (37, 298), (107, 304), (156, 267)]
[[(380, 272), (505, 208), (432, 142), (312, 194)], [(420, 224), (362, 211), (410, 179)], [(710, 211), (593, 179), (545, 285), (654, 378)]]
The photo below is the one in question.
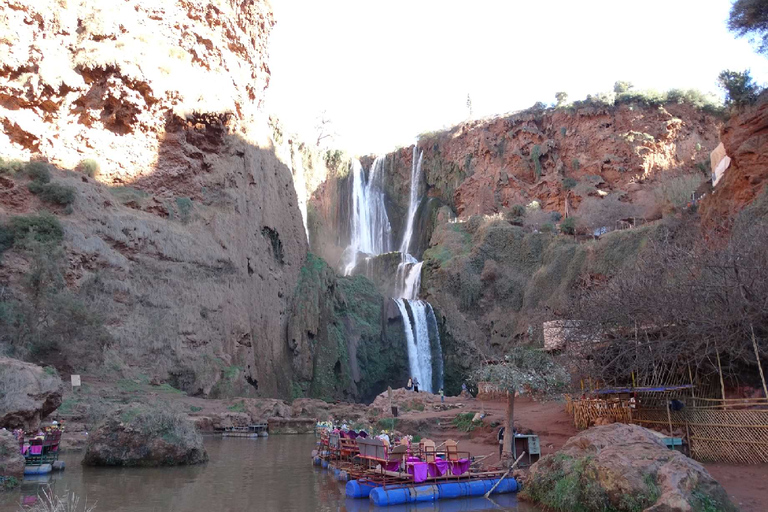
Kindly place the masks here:
[[(573, 400), (566, 411), (579, 429), (599, 418), (634, 423), (675, 437), (685, 437), (691, 457), (702, 462), (768, 463), (768, 399), (702, 399), (680, 411), (632, 407), (624, 399)], [(670, 430), (672, 432), (670, 432)]]

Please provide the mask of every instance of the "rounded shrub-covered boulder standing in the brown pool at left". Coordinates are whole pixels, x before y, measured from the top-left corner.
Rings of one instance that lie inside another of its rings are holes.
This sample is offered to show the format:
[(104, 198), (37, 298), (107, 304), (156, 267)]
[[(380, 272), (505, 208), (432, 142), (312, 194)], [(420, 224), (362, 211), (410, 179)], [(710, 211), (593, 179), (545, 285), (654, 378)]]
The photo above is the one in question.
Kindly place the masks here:
[(203, 438), (185, 415), (134, 404), (113, 411), (88, 436), (87, 466), (176, 466), (208, 460)]

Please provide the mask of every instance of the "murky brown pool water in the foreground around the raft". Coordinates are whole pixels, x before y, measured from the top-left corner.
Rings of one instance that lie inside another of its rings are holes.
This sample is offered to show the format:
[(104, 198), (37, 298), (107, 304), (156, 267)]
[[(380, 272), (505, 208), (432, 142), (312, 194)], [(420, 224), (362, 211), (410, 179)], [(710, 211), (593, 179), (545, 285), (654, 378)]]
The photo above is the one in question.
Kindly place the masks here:
[(45, 485), (57, 494), (69, 489), (97, 512), (530, 512), (514, 495), (423, 503), (377, 509), (368, 500), (344, 496), (344, 484), (312, 466), (314, 436), (206, 440), (210, 461), (172, 468), (84, 468), (82, 453), (62, 455), (67, 469), (25, 479), (21, 492), (0, 494), (0, 512), (17, 512)]

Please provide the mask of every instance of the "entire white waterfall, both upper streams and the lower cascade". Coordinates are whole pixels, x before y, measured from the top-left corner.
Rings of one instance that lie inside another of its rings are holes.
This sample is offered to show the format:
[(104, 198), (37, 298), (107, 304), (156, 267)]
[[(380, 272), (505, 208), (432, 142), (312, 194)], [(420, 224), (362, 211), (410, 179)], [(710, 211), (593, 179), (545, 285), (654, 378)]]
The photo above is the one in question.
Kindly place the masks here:
[[(410, 253), (419, 207), (422, 159), (423, 153), (414, 146), (408, 216), (400, 243), (401, 261), (393, 300), (403, 318), (410, 375), (418, 379), (423, 391), (431, 393), (443, 387), (442, 347), (435, 312), (427, 301), (418, 299), (423, 262)], [(382, 186), (384, 163), (384, 157), (376, 158), (366, 178), (360, 162), (352, 162), (352, 215), (350, 244), (343, 258), (345, 275), (353, 272), (360, 253), (371, 257), (393, 250), (392, 226)]]

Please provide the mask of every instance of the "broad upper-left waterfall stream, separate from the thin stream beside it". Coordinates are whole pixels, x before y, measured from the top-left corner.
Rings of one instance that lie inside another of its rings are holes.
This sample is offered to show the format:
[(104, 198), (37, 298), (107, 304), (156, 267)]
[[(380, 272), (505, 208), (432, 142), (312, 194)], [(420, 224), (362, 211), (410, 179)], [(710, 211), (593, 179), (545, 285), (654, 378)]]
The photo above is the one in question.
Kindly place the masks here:
[(376, 256), (391, 250), (392, 226), (381, 190), (384, 158), (376, 158), (367, 180), (362, 164), (352, 161), (352, 219), (344, 275), (352, 273), (359, 253)]

